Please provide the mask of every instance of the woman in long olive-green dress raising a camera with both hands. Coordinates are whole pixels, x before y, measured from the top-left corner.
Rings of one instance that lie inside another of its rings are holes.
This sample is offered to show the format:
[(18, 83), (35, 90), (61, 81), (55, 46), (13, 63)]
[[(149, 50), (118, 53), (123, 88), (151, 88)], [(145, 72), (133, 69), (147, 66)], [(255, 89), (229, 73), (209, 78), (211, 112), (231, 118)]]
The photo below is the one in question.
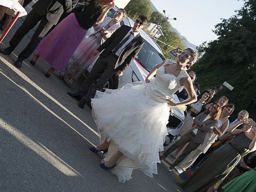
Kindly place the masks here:
[[(182, 186), (187, 192), (214, 192), (222, 180), (232, 171), (241, 157), (256, 150), (256, 127), (250, 125), (251, 119), (244, 119), (228, 128), (230, 134), (236, 135), (228, 144), (214, 153), (196, 170)], [(236, 129), (240, 124), (250, 126), (247, 134)]]

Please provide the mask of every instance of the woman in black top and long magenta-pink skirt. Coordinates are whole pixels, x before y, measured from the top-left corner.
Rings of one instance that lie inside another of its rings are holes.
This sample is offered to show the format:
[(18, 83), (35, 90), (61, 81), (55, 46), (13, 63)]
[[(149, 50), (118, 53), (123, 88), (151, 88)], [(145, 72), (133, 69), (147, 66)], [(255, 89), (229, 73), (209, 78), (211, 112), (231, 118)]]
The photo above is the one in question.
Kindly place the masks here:
[[(97, 21), (102, 22), (108, 10), (114, 7), (113, 0), (86, 0), (84, 10), (74, 12), (66, 17), (54, 30), (52, 30), (37, 46), (30, 63), (36, 64), (41, 56), (52, 66), (46, 77), (54, 72), (55, 69), (62, 71), (68, 60), (74, 54), (78, 45), (82, 42), (89, 28)], [(103, 16), (102, 16), (103, 13)]]

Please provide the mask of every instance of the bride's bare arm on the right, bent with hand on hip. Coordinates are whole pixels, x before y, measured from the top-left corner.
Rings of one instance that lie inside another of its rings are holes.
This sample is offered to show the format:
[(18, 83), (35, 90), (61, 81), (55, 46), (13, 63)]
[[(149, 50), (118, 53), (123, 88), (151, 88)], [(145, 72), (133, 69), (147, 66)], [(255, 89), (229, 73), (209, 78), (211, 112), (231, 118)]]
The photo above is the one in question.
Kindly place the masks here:
[(181, 105), (188, 105), (190, 103), (196, 102), (196, 100), (197, 100), (196, 92), (194, 90), (191, 78), (190, 77), (182, 78), (180, 80), (180, 83), (184, 86), (184, 88), (188, 92), (189, 98), (182, 101), (182, 102), (179, 102), (179, 103), (174, 103), (172, 101), (169, 101), (168, 105), (170, 107), (178, 107), (178, 106), (181, 106)]

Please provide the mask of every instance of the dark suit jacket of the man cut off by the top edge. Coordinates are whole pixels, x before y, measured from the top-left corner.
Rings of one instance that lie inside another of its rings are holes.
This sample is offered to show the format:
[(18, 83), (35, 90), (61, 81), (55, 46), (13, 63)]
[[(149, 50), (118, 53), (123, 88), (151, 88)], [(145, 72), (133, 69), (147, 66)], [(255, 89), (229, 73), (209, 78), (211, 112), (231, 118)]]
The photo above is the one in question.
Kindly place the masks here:
[(78, 0), (65, 2), (65, 0), (38, 0), (32, 8), (39, 15), (46, 15), (49, 22), (56, 25), (62, 13), (71, 12)]

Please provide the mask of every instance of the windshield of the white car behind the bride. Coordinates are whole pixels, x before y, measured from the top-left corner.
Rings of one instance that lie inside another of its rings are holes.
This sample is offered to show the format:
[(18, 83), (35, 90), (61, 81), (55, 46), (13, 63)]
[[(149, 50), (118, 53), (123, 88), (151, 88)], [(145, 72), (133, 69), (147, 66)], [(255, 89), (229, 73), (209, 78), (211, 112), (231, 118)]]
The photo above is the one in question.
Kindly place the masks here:
[(144, 45), (136, 56), (136, 59), (148, 72), (150, 72), (156, 64), (162, 63), (165, 58), (152, 45), (150, 45), (149, 42), (144, 40)]

